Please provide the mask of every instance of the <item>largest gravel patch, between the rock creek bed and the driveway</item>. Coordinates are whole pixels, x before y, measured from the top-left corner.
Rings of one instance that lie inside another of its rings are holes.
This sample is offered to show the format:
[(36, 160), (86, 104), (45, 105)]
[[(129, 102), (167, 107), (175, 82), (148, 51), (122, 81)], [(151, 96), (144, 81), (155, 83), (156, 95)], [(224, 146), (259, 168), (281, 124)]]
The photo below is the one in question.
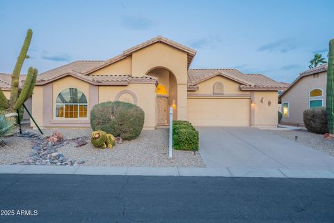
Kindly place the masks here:
[[(88, 130), (87, 134), (90, 134)], [(68, 144), (58, 149), (65, 157), (85, 160), (89, 166), (117, 167), (205, 167), (200, 153), (175, 151), (168, 157), (168, 130), (158, 129), (141, 132), (132, 141), (124, 141), (113, 148), (97, 149), (88, 143), (79, 148)]]

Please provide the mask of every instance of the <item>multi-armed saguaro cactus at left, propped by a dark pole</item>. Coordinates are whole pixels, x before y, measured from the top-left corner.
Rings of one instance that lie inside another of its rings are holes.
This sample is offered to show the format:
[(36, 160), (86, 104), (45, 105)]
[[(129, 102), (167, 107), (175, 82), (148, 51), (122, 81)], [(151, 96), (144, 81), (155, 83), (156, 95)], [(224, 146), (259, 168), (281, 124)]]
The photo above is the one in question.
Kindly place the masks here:
[(5, 110), (5, 113), (8, 115), (8, 117), (17, 115), (17, 109), (19, 109), (24, 101), (26, 101), (32, 95), (33, 88), (35, 87), (38, 70), (30, 67), (28, 74), (26, 75), (26, 80), (24, 82), (24, 86), (22, 87), (22, 91), (19, 93), (19, 75), (21, 73), (24, 60), (29, 58), (26, 53), (28, 52), (32, 36), (33, 31), (28, 29), (26, 32), (24, 44), (22, 46), (21, 52), (19, 52), (16, 65), (13, 70), (9, 100), (0, 89), (0, 109)]

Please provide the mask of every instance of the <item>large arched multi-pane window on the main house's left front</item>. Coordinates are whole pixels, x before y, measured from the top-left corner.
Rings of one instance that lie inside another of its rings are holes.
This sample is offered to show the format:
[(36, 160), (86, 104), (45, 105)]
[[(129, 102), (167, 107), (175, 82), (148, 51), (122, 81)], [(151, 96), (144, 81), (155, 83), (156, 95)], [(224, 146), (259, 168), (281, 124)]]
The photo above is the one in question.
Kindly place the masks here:
[(56, 98), (56, 118), (87, 118), (87, 98), (79, 89), (65, 89)]

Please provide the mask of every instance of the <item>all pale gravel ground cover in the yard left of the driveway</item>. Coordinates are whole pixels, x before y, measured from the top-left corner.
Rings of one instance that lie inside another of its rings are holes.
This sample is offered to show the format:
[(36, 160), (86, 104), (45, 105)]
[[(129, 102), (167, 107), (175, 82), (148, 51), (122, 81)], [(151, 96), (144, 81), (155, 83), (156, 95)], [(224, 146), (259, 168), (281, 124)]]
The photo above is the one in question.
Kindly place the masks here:
[[(26, 129), (38, 133), (38, 130)], [(90, 136), (90, 129), (45, 129), (45, 136), (58, 130), (66, 139)], [(6, 139), (8, 146), (0, 148), (0, 164), (22, 162), (29, 156), (33, 143), (28, 139), (11, 137)], [(57, 153), (67, 159), (83, 160), (89, 166), (114, 167), (205, 167), (200, 153), (191, 151), (175, 151), (173, 157), (168, 157), (168, 130), (158, 129), (141, 132), (132, 141), (124, 141), (113, 148), (98, 149), (90, 144), (74, 147), (73, 143), (57, 148)]]

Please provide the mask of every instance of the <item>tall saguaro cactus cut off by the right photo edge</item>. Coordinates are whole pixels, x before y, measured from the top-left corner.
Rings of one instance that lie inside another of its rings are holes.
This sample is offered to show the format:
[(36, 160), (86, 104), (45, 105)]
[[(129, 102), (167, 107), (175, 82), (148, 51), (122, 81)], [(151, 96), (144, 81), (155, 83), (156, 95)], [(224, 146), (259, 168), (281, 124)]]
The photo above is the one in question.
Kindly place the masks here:
[(334, 39), (329, 41), (327, 66), (326, 109), (328, 132), (334, 134)]

